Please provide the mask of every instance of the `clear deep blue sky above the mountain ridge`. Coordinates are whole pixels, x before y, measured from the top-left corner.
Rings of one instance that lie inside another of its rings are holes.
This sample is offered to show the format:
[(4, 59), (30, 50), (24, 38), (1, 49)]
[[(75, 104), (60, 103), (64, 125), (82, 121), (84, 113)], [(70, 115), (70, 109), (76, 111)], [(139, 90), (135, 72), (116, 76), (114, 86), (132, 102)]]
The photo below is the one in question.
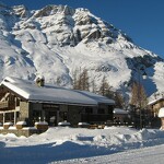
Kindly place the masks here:
[(0, 0), (40, 9), (47, 4), (86, 8), (128, 34), (142, 48), (164, 58), (164, 0)]

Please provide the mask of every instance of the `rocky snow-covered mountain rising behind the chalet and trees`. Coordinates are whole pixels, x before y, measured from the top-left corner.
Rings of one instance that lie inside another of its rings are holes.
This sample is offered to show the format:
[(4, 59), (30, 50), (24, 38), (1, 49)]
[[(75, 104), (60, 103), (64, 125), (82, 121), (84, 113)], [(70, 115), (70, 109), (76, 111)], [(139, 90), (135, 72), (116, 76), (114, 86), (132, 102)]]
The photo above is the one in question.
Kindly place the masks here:
[(0, 79), (42, 74), (47, 82), (61, 78), (71, 86), (75, 69), (85, 68), (97, 85), (105, 75), (114, 89), (125, 90), (138, 79), (134, 68), (141, 65), (149, 96), (163, 92), (164, 60), (89, 10), (47, 5), (30, 11), (0, 3)]

